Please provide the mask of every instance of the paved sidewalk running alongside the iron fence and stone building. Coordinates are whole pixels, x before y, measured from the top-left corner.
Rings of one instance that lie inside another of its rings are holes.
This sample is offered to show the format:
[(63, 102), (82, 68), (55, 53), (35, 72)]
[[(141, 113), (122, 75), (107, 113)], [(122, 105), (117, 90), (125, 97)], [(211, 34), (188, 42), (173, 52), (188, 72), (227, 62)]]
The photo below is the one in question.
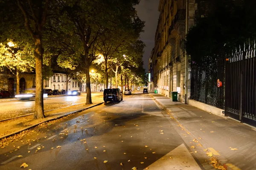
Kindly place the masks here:
[(256, 169), (256, 129), (160, 94), (149, 93), (228, 170)]

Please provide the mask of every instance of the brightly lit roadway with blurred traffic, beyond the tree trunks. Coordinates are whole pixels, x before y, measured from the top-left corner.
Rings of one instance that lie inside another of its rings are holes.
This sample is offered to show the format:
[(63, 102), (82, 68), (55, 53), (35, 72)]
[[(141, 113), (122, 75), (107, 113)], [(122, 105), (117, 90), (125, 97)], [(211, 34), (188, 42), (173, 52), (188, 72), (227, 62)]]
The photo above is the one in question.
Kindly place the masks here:
[[(102, 99), (103, 92), (92, 93), (92, 98)], [(61, 107), (71, 106), (86, 102), (86, 94), (81, 93), (79, 96), (49, 96), (44, 99), (44, 110), (58, 109)], [(35, 101), (1, 101), (0, 102), (0, 120), (14, 118), (20, 115), (33, 113), (35, 110)]]

